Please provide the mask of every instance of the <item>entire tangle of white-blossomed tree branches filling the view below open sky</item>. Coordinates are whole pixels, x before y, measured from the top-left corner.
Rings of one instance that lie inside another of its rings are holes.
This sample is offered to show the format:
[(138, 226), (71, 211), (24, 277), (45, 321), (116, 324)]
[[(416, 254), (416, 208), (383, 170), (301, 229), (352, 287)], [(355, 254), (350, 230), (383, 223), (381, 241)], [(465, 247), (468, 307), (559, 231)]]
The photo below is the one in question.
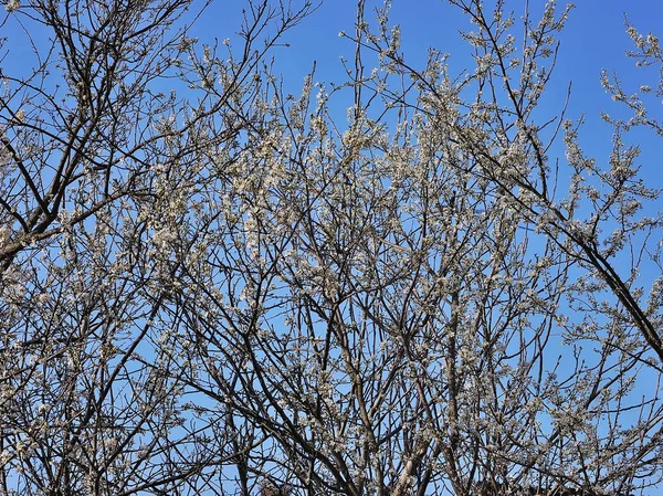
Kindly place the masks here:
[(8, 3), (53, 45), (0, 112), (4, 493), (660, 483), (661, 219), (624, 136), (660, 123), (607, 74), (633, 114), (598, 163), (538, 106), (569, 9), (451, 3), (473, 70), (413, 67), (359, 0), (349, 80), (298, 97), (263, 61), (308, 2), (250, 2), (240, 55), (182, 0)]

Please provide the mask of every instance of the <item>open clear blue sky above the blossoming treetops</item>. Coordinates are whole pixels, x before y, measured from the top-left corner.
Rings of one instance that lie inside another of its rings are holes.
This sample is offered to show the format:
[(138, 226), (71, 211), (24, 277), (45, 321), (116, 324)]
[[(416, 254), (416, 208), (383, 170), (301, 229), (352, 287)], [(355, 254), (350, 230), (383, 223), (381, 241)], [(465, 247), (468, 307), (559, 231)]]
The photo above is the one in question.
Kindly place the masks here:
[[(296, 2), (297, 0), (295, 0)], [(194, 34), (201, 42), (211, 43), (213, 38), (223, 40), (232, 38), (239, 25), (239, 12), (244, 2), (240, 0), (218, 1), (212, 4)], [(367, 10), (381, 6), (381, 1), (367, 0)], [(486, 1), (486, 4), (492, 3)], [(519, 17), (525, 0), (509, 1), (508, 7)], [(530, 0), (533, 9), (540, 10), (544, 2)], [(560, 8), (564, 3), (560, 3)], [(317, 63), (317, 81), (343, 82), (343, 65), (339, 56), (351, 59), (352, 43), (338, 36), (345, 30), (354, 30), (356, 18), (356, 0), (327, 0), (311, 18), (286, 34), (284, 42), (290, 48), (276, 48), (273, 55), (276, 70), (283, 73), (286, 88), (297, 93), (302, 81), (314, 63)], [(621, 75), (627, 88), (638, 87), (634, 62), (625, 59), (624, 52), (632, 48), (625, 34), (624, 13), (641, 31), (656, 32), (663, 19), (663, 1), (631, 1), (621, 0), (589, 0), (578, 2), (571, 11), (567, 28), (560, 34), (561, 48), (556, 76), (549, 87), (546, 102), (550, 112), (561, 108), (566, 97), (568, 83), (572, 81), (573, 88), (569, 105), (568, 117), (578, 118), (585, 115), (587, 125), (580, 133), (583, 148), (596, 155), (599, 161), (606, 160), (610, 154), (611, 128), (600, 120), (601, 109), (615, 113), (618, 108), (600, 85), (601, 70), (614, 70)], [(369, 22), (372, 18), (369, 15)], [(413, 65), (423, 66), (427, 48), (435, 45), (443, 52), (449, 52), (452, 73), (460, 73), (471, 64), (470, 48), (459, 36), (459, 29), (470, 29), (466, 20), (459, 11), (440, 0), (394, 0), (392, 22), (402, 27), (403, 49), (408, 60)], [(8, 24), (0, 36), (12, 36), (14, 23)], [(663, 30), (660, 30), (663, 34)], [(40, 33), (31, 33), (36, 40)], [(12, 45), (15, 46), (15, 45)], [(12, 50), (15, 50), (12, 48)], [(20, 68), (17, 64), (31, 51), (25, 44), (2, 64), (4, 71)], [(656, 74), (654, 74), (655, 76)], [(651, 82), (651, 80), (650, 80)], [(655, 102), (661, 105), (661, 102)], [(654, 109), (656, 110), (656, 109)], [(345, 114), (345, 109), (339, 110)], [(661, 145), (653, 134), (638, 133), (632, 135), (643, 148), (643, 175), (648, 186), (663, 187), (663, 175), (659, 168)]]

